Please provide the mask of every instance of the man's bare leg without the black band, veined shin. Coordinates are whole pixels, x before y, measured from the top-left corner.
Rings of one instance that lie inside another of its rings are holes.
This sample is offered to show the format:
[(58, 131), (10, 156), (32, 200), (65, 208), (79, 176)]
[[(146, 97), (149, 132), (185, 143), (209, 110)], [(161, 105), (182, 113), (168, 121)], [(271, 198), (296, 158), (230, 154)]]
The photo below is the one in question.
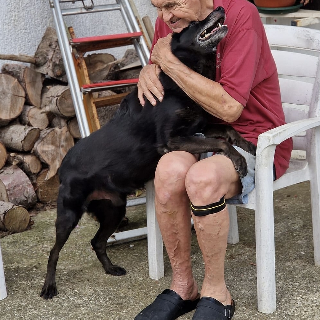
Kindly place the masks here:
[(183, 151), (164, 155), (155, 175), (156, 212), (172, 266), (170, 289), (183, 300), (194, 300), (198, 286), (191, 266), (191, 212), (185, 177), (196, 157)]

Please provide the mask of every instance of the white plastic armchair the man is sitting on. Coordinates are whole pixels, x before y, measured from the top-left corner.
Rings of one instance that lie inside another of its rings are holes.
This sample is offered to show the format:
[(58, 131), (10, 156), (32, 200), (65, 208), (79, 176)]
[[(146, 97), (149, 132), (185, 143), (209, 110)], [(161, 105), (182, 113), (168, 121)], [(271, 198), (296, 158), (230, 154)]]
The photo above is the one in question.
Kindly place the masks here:
[[(310, 181), (315, 265), (320, 267), (320, 31), (280, 25), (265, 25), (265, 29), (276, 60), (287, 124), (260, 134), (255, 189), (249, 204), (241, 206), (255, 210), (258, 310), (272, 313), (276, 310), (273, 190)], [(276, 145), (290, 137), (294, 149), (299, 154), (305, 151), (305, 156), (292, 158), (286, 173), (272, 181)], [(239, 241), (236, 206), (228, 208), (228, 242), (234, 244)], [(153, 214), (147, 213), (154, 221)], [(148, 230), (148, 235), (154, 237), (157, 232)], [(152, 254), (155, 261), (162, 243), (160, 248), (149, 242), (149, 256)], [(150, 274), (152, 268), (149, 265)]]

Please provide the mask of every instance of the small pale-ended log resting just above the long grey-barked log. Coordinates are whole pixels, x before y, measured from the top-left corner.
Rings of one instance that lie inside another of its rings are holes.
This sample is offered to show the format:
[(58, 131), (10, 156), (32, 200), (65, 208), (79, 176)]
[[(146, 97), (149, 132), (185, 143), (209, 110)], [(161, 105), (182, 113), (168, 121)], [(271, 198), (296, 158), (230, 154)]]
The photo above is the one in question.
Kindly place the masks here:
[(31, 127), (45, 129), (49, 125), (49, 119), (46, 113), (34, 106), (24, 105), (22, 113), (20, 114), (21, 124)]

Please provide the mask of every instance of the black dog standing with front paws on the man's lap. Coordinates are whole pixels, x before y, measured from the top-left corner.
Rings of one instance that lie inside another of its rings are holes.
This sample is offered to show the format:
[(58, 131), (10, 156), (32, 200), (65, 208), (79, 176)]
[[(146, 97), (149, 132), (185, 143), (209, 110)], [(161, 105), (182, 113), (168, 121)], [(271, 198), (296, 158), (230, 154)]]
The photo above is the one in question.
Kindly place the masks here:
[[(214, 79), (212, 59), (219, 41), (227, 34), (223, 8), (205, 20), (193, 22), (172, 36), (172, 52), (190, 68)], [(232, 144), (255, 153), (255, 146), (228, 126), (209, 126), (205, 111), (196, 105), (168, 76), (161, 73), (165, 95), (156, 107), (142, 108), (137, 91), (130, 93), (113, 119), (89, 137), (81, 139), (65, 156), (59, 171), (56, 242), (50, 252), (48, 270), (41, 296), (57, 294), (55, 282), (59, 252), (85, 210), (92, 212), (100, 228), (91, 240), (105, 272), (124, 275), (106, 253), (106, 243), (125, 215), (126, 196), (154, 178), (161, 154), (185, 150), (194, 154), (215, 151), (228, 156), (241, 176), (246, 161)], [(194, 136), (204, 132), (208, 137)], [(229, 142), (228, 142), (229, 141)]]

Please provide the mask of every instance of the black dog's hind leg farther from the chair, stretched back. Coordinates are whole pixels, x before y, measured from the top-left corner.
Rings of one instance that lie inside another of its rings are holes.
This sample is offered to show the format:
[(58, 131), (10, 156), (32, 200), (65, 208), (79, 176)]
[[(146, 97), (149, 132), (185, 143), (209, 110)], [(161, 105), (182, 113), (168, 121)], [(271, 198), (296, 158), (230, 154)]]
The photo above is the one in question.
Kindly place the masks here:
[[(50, 252), (47, 274), (45, 277), (44, 285), (41, 290), (40, 296), (44, 297), (44, 299), (52, 299), (57, 295), (57, 285), (56, 285), (56, 268), (59, 259), (59, 253), (68, 240), (71, 231), (78, 224), (83, 210), (81, 206), (78, 205), (73, 207), (73, 209), (69, 209), (63, 204), (63, 192), (60, 186), (59, 196), (58, 196), (58, 207), (57, 207), (57, 219), (56, 219), (56, 241)], [(76, 208), (76, 209), (75, 209)]]

